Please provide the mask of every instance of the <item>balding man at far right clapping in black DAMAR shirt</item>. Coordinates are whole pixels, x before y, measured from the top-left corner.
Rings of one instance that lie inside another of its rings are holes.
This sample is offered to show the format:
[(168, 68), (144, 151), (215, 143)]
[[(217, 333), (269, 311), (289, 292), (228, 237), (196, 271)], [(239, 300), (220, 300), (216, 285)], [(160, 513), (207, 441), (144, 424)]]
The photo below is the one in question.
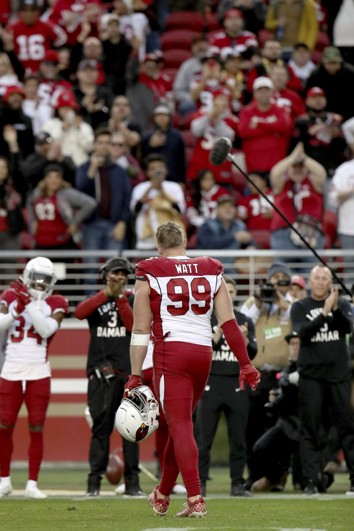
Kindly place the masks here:
[(291, 321), (300, 338), (298, 358), (300, 457), (307, 480), (304, 494), (316, 494), (320, 472), (319, 427), (325, 408), (331, 408), (342, 443), (354, 494), (354, 412), (350, 405), (350, 365), (345, 335), (353, 329), (348, 301), (332, 288), (331, 271), (316, 265), (309, 278), (311, 295), (293, 304)]

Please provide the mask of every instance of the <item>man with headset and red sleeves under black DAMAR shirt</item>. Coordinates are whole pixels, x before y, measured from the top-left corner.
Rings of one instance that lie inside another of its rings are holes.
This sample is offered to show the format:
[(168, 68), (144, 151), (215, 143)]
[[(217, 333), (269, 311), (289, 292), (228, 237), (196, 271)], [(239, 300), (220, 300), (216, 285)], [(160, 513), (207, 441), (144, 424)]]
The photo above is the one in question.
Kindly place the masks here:
[[(130, 338), (134, 296), (125, 290), (132, 265), (125, 258), (111, 258), (99, 270), (106, 287), (78, 304), (75, 317), (87, 319), (90, 346), (87, 357), (88, 407), (92, 438), (87, 496), (98, 496), (109, 457), (109, 438), (130, 372)], [(141, 496), (139, 445), (123, 439), (125, 495)]]

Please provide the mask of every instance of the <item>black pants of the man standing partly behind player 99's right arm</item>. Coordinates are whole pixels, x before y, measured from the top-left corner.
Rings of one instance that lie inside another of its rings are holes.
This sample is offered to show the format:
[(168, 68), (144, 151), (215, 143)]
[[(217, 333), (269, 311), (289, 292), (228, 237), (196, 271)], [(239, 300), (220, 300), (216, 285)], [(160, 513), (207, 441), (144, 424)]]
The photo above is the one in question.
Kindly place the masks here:
[(248, 393), (240, 390), (238, 376), (210, 375), (197, 408), (196, 430), (199, 451), (199, 476), (205, 482), (212, 447), (221, 412), (225, 413), (230, 445), (230, 476), (232, 485), (242, 481), (246, 464), (246, 426)]

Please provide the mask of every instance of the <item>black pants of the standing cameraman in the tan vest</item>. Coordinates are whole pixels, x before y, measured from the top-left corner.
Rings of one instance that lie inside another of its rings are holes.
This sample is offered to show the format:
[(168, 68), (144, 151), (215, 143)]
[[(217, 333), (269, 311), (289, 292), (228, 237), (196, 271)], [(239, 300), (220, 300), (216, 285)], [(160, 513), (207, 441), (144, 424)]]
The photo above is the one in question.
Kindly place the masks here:
[[(249, 386), (249, 412), (247, 423), (247, 466), (248, 475), (254, 482), (260, 477), (264, 476), (262, 461), (259, 461), (254, 455), (252, 449), (258, 439), (264, 434), (269, 427), (269, 418), (267, 417), (267, 410), (264, 407), (269, 401), (269, 391), (277, 388), (276, 372), (261, 371), (260, 384), (255, 391), (252, 391)], [(273, 422), (274, 423), (274, 422)]]

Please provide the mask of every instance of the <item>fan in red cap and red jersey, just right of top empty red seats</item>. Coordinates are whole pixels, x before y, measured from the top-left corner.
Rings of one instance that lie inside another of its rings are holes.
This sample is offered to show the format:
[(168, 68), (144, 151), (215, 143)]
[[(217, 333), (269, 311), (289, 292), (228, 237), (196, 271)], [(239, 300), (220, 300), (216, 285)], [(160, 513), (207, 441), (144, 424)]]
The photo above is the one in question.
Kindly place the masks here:
[[(238, 9), (229, 9), (224, 15), (225, 31), (217, 33), (210, 45), (218, 48), (238, 47), (240, 52), (250, 46), (258, 48), (258, 40), (251, 31), (243, 31), (243, 15)], [(242, 49), (241, 49), (242, 47)]]

